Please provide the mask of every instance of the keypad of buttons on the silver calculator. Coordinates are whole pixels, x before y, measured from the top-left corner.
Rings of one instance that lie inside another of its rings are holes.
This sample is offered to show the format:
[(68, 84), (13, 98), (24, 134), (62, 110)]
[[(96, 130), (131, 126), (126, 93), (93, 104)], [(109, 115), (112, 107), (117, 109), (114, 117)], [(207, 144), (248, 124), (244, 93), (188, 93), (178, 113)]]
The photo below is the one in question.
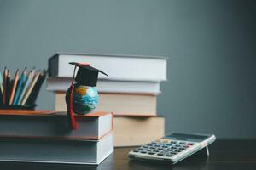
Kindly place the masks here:
[(144, 155), (172, 157), (194, 145), (192, 142), (159, 139), (132, 150)]

